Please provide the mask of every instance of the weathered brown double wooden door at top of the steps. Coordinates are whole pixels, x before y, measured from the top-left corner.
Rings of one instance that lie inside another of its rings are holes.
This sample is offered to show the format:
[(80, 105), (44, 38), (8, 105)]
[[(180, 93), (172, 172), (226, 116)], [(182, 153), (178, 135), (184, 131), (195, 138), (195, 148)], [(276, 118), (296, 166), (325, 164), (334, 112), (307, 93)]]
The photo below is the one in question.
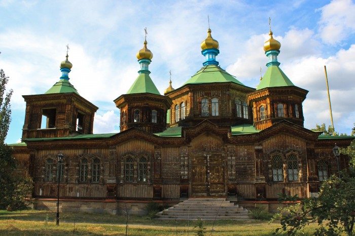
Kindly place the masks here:
[(193, 196), (225, 196), (225, 182), (222, 154), (192, 155), (191, 193)]

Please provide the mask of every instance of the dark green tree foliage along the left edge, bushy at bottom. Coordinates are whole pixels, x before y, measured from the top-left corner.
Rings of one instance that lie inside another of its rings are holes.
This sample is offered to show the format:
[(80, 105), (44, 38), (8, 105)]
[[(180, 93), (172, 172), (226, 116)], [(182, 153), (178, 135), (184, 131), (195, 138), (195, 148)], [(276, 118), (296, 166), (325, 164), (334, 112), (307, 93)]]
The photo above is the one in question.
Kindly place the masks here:
[(14, 176), (17, 163), (12, 157), (12, 148), (5, 143), (11, 123), (10, 99), (13, 92), (9, 90), (6, 93), (8, 82), (9, 77), (0, 69), (0, 209), (21, 209), (28, 205), (25, 198), (31, 193), (32, 180)]

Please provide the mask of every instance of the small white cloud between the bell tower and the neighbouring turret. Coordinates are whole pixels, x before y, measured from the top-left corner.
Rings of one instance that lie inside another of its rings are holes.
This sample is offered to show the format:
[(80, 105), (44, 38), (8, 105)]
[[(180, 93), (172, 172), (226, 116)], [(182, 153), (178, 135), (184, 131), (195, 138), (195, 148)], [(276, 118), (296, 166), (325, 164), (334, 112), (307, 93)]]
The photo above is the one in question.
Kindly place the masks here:
[(104, 114), (95, 114), (94, 118), (94, 134), (118, 133), (120, 116), (115, 111), (110, 110)]

